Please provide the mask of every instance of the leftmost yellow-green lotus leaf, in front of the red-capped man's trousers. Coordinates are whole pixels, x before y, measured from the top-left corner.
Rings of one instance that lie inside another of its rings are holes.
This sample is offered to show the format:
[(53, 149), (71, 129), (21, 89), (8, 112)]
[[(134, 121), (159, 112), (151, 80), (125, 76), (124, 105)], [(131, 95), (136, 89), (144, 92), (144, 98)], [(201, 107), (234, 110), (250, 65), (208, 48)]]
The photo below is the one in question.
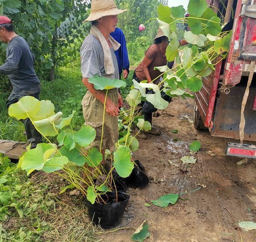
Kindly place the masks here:
[(41, 103), (38, 99), (25, 96), (19, 99), (18, 102), (10, 105), (8, 113), (11, 117), (19, 119), (26, 119), (28, 117), (34, 118), (40, 110)]

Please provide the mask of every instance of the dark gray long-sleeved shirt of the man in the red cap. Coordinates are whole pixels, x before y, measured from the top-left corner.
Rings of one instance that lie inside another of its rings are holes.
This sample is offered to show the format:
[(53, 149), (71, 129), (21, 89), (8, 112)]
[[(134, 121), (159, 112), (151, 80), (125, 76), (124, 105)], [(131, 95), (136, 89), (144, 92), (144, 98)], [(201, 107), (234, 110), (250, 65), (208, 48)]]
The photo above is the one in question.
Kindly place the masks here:
[(41, 90), (40, 81), (34, 70), (34, 55), (26, 40), (14, 37), (6, 49), (6, 61), (0, 66), (0, 74), (8, 75), (13, 93), (34, 94)]

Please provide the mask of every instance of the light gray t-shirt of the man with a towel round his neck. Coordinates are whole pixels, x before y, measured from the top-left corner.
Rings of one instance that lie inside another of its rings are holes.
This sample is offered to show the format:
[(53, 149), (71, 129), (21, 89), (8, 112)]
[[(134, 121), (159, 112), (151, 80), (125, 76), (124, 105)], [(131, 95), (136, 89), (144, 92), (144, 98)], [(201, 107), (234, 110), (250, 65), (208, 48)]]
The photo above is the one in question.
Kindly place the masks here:
[(119, 79), (118, 63), (113, 48), (110, 49), (115, 68), (115, 74), (106, 75), (104, 69), (103, 48), (99, 40), (89, 34), (81, 47), (81, 72), (84, 78), (90, 78), (94, 75), (105, 76), (109, 79)]

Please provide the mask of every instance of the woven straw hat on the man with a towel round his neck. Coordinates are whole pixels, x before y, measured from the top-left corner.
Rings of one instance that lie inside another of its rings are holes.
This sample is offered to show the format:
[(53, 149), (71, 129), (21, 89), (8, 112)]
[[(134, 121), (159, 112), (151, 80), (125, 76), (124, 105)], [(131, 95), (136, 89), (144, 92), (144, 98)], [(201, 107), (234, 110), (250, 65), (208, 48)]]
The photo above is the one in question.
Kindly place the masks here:
[(94, 21), (104, 16), (117, 15), (127, 11), (116, 7), (113, 0), (91, 0), (91, 13), (85, 21)]

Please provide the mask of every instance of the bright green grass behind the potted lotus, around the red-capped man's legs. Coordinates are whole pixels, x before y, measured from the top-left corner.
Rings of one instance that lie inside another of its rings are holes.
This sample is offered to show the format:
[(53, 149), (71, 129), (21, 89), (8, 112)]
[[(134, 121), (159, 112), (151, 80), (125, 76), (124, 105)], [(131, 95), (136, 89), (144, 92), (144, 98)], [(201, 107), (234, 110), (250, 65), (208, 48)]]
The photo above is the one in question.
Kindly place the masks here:
[[(81, 101), (86, 93), (86, 88), (82, 83), (82, 75), (78, 62), (74, 62), (67, 67), (59, 67), (56, 80), (49, 82), (41, 80), (42, 91), (41, 100), (51, 100), (55, 105), (55, 111), (62, 111), (64, 116), (68, 116), (70, 110), (75, 110), (76, 114), (71, 125), (74, 128), (81, 127), (84, 123)], [(0, 88), (0, 139), (14, 141), (26, 141), (24, 125), (8, 115), (5, 102), (10, 95), (10, 90)]]

